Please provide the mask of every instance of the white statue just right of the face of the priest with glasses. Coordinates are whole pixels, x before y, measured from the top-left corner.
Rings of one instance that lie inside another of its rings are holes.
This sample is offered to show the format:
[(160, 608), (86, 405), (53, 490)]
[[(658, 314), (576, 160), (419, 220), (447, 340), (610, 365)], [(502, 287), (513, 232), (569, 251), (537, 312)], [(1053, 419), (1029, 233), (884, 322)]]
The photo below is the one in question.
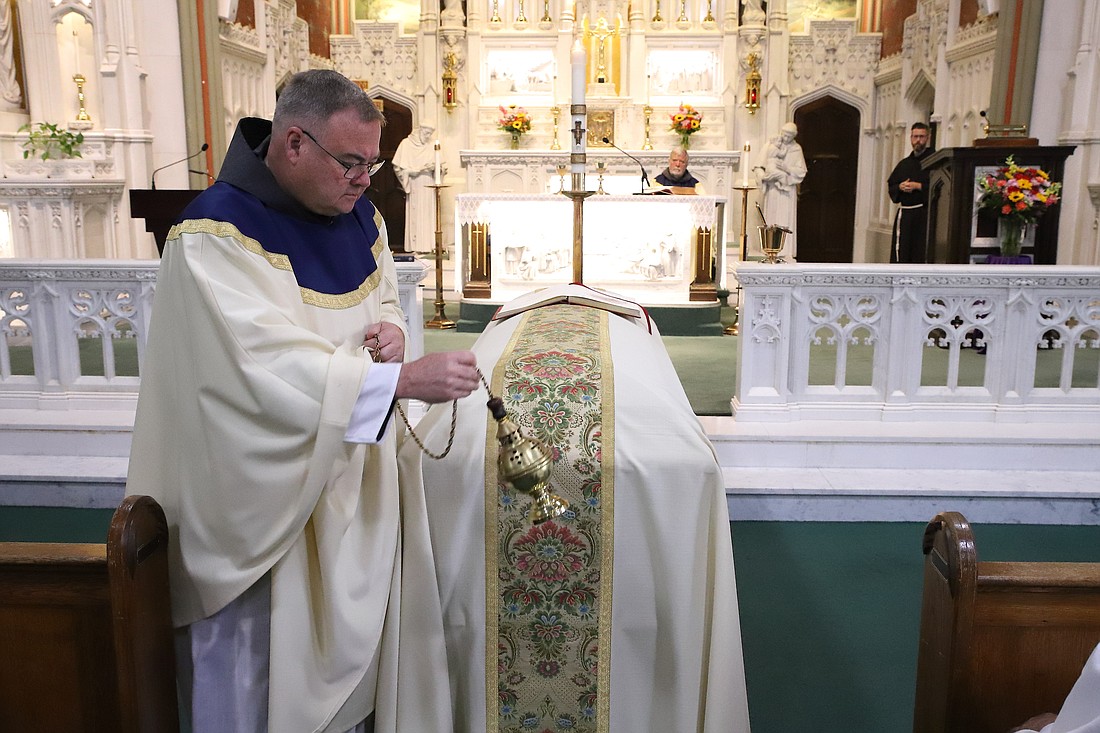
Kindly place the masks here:
[(406, 194), (405, 251), (431, 252), (436, 247), (436, 198), (428, 186), (436, 174), (433, 128), (420, 125), (394, 153), (394, 173)]

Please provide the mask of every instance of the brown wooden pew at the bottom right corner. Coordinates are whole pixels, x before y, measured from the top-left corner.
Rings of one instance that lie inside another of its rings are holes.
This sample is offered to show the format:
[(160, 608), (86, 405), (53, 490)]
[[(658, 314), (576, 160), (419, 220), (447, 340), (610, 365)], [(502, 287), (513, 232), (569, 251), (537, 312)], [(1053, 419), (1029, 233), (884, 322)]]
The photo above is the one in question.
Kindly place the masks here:
[(1007, 733), (1058, 712), (1100, 643), (1100, 564), (979, 562), (957, 512), (924, 533), (914, 733)]

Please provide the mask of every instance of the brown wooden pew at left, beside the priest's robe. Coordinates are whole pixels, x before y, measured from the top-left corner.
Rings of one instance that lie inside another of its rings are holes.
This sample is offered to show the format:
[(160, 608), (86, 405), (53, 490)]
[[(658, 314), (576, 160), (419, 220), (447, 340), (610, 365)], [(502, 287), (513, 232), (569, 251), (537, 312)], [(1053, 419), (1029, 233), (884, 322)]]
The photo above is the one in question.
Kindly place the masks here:
[(0, 543), (0, 729), (178, 733), (167, 545), (148, 496), (106, 545)]

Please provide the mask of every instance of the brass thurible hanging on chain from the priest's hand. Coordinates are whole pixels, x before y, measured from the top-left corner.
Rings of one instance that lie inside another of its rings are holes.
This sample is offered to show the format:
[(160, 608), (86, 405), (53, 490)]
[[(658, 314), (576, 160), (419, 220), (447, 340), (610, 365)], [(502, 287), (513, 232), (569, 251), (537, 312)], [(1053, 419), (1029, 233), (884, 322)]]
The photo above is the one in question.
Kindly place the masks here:
[(553, 462), (550, 447), (525, 436), (519, 426), (508, 418), (501, 397), (492, 397), (486, 405), (497, 423), (499, 448), (496, 468), (501, 480), (531, 496), (528, 518), (532, 524), (561, 516), (569, 508), (569, 502), (550, 492), (550, 466)]

